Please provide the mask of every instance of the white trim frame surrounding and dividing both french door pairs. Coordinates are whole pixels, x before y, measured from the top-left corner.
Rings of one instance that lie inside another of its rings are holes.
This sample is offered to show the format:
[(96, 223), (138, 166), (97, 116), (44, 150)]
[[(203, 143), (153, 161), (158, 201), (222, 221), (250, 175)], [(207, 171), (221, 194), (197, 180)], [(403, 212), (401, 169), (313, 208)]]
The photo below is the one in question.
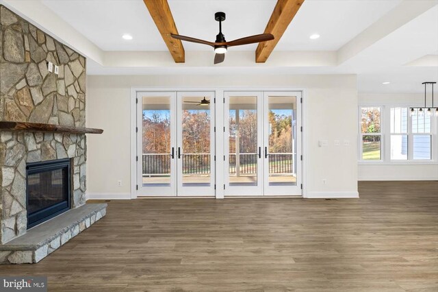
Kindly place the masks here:
[[(216, 112), (223, 112), (224, 110), (224, 91), (300, 91), (302, 93), (302, 156), (304, 159), (302, 160), (302, 197), (307, 197), (307, 186), (308, 182), (308, 170), (307, 170), (307, 152), (308, 152), (308, 143), (307, 143), (307, 135), (309, 135), (309, 129), (307, 127), (307, 90), (305, 88), (294, 88), (294, 87), (241, 87), (241, 86), (207, 86), (207, 87), (191, 87), (191, 86), (178, 86), (178, 87), (157, 87), (157, 86), (132, 86), (131, 87), (131, 123), (130, 123), (130, 132), (131, 132), (131, 199), (136, 199), (138, 196), (137, 183), (138, 183), (138, 175), (137, 175), (137, 104), (136, 97), (138, 92), (177, 92), (177, 91), (215, 91), (216, 92)], [(224, 121), (223, 114), (216, 114), (216, 173), (222, 173), (224, 169), (224, 161), (222, 159), (218, 159), (224, 155), (224, 132), (220, 131), (227, 123)], [(216, 175), (216, 199), (224, 198), (224, 188), (222, 185), (224, 184), (223, 175)]]

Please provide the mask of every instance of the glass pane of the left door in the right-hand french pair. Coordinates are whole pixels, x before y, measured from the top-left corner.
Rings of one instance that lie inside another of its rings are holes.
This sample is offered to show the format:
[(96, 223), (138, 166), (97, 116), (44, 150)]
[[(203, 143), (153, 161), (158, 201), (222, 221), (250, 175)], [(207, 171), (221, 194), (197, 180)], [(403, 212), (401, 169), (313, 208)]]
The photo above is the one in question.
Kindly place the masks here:
[(257, 97), (230, 97), (229, 185), (257, 186)]

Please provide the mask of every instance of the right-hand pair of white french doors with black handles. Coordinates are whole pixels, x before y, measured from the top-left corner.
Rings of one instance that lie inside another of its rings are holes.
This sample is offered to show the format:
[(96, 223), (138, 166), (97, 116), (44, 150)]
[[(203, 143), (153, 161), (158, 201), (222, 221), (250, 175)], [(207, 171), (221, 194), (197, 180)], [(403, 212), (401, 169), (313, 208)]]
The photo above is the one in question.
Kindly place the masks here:
[(301, 93), (224, 98), (224, 195), (301, 195)]

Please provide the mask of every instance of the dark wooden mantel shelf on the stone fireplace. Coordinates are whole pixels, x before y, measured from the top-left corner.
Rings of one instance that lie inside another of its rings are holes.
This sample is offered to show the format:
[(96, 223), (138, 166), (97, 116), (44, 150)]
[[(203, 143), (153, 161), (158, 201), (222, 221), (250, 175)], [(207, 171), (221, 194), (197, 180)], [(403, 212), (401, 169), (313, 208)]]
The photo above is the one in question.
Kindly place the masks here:
[(0, 121), (0, 131), (54, 132), (64, 134), (102, 134), (102, 129), (92, 127), (70, 127), (48, 123), (27, 123), (18, 121)]

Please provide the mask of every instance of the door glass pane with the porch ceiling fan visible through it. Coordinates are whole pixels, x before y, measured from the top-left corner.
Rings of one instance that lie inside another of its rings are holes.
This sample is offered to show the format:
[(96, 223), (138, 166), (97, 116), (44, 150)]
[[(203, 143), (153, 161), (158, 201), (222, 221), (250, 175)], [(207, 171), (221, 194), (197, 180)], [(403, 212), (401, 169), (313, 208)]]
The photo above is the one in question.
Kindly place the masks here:
[(211, 184), (209, 97), (183, 97), (183, 186)]

